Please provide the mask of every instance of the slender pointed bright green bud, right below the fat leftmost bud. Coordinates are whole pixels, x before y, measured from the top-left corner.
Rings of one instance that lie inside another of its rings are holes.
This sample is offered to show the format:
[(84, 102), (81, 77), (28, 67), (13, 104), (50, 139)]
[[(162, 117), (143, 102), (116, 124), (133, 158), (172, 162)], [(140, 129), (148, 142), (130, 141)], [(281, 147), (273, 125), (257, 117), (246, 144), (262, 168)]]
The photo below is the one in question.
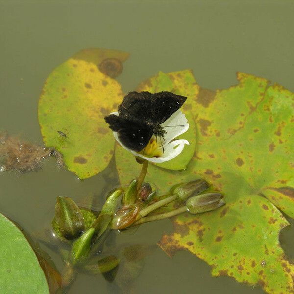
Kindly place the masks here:
[(71, 251), (73, 264), (88, 256), (91, 246), (91, 239), (94, 233), (95, 229), (90, 228), (82, 236), (74, 241)]

